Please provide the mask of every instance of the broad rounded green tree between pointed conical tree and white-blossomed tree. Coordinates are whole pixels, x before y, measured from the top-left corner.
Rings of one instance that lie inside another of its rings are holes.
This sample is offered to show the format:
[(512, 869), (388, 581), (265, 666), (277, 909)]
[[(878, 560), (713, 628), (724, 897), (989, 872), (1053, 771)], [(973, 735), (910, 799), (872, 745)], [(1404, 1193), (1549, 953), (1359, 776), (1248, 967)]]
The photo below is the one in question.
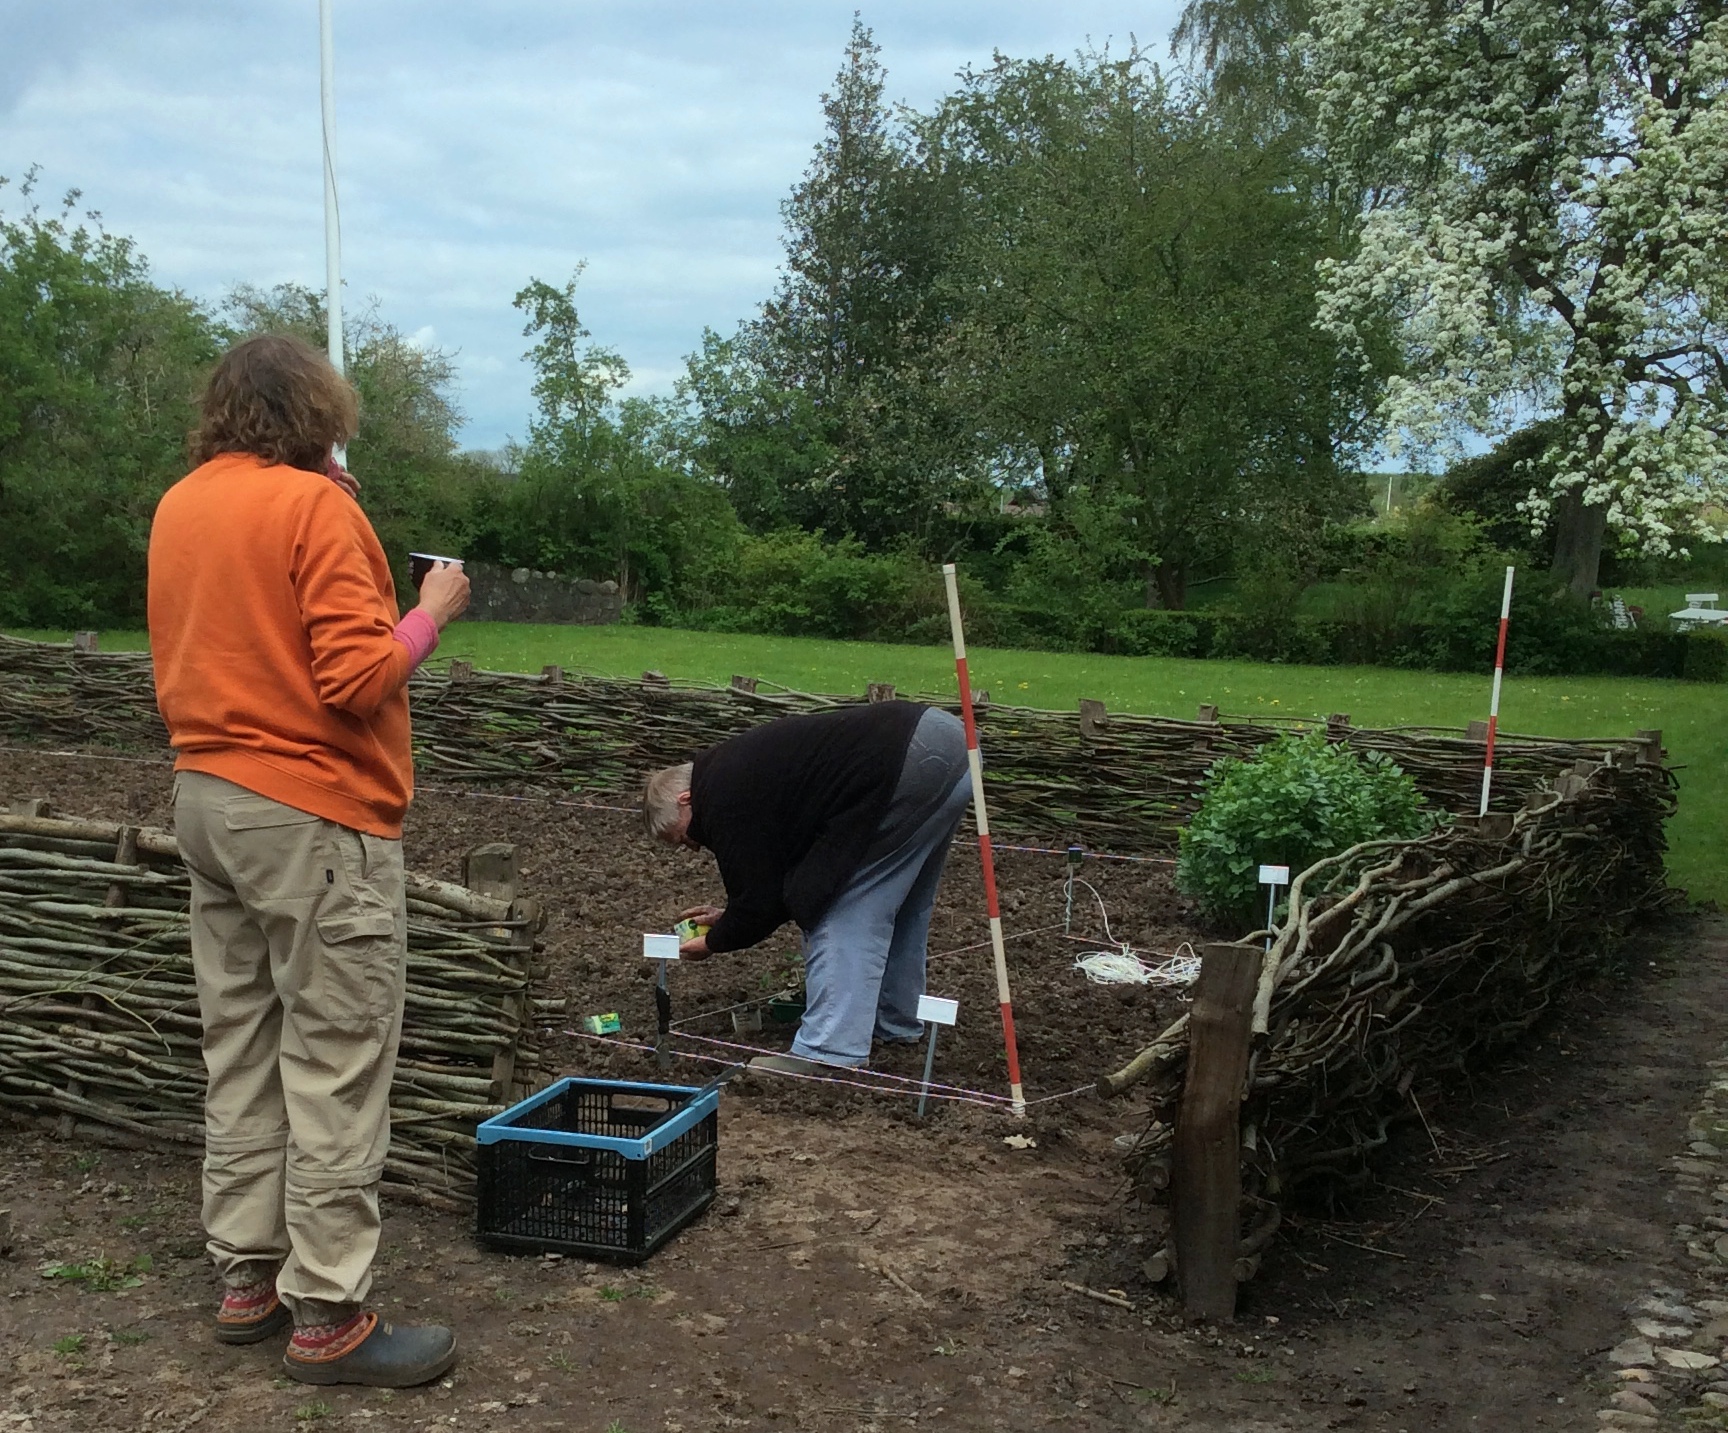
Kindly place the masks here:
[(1339, 451), (1372, 373), (1313, 327), (1337, 214), (1291, 137), (1261, 140), (1139, 54), (999, 61), (926, 126), (962, 187), (947, 382), (1147, 605), (1362, 503)]

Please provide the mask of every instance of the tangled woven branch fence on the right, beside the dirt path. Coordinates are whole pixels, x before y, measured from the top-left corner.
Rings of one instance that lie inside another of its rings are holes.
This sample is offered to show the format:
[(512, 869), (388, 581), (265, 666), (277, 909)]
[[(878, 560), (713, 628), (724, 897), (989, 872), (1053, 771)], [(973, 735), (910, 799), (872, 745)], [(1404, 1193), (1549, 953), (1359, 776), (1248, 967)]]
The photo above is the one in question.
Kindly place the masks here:
[[(1562, 989), (1602, 971), (1628, 928), (1673, 899), (1662, 873), (1673, 809), (1659, 748), (1628, 745), (1555, 773), (1512, 814), (1370, 842), (1298, 875), (1284, 921), (1237, 947), (1251, 947), (1239, 1004), (1248, 1208), (1360, 1181), (1438, 1077), (1474, 1068)], [(1149, 1193), (1170, 1181), (1189, 1060), (1182, 1015), (1099, 1082), (1106, 1094), (1142, 1082), (1153, 1092), (1132, 1156)]]

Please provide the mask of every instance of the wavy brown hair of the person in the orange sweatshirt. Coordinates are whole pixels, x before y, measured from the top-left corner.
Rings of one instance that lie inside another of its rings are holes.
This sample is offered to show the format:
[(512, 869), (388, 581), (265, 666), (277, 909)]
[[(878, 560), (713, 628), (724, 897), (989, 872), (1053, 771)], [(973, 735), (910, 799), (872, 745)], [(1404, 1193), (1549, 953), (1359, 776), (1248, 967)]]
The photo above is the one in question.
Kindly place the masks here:
[(292, 334), (235, 344), (216, 363), (199, 401), (194, 463), (252, 453), (266, 463), (323, 472), (330, 449), (359, 425), (359, 399), (330, 360)]

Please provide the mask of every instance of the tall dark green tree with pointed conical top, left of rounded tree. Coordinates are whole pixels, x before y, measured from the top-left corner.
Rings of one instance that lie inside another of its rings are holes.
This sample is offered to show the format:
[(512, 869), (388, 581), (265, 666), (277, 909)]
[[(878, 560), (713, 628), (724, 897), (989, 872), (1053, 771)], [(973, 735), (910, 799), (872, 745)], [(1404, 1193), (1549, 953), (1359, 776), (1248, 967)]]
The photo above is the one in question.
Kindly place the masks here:
[(823, 95), (826, 131), (783, 206), (785, 271), (762, 315), (708, 335), (684, 384), (696, 460), (757, 531), (791, 522), (871, 548), (931, 541), (973, 479), (949, 401), (937, 277), (952, 185), (890, 116), (878, 47), (854, 22)]

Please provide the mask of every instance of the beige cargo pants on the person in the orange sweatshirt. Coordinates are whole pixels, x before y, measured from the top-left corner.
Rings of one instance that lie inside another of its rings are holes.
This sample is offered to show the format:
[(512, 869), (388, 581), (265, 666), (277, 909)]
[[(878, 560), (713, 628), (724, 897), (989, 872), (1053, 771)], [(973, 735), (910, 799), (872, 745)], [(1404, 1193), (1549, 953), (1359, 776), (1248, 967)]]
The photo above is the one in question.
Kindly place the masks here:
[(175, 781), (204, 1018), (204, 1229), (297, 1324), (372, 1286), (403, 1032), (403, 845), (202, 773)]

